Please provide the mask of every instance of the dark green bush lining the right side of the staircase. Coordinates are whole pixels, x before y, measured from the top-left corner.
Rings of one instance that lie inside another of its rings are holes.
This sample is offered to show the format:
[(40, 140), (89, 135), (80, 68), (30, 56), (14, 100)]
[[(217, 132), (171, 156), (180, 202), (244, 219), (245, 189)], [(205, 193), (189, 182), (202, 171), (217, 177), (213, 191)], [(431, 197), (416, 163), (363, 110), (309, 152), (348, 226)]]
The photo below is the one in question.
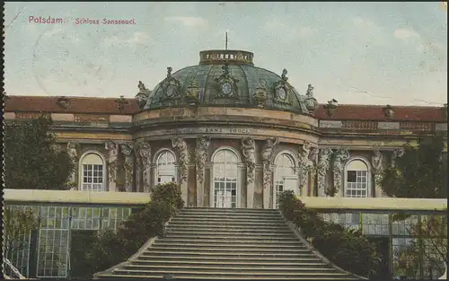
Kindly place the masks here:
[(360, 232), (325, 222), (307, 209), (292, 191), (279, 197), (279, 209), (286, 219), (299, 227), (313, 247), (331, 262), (351, 273), (373, 277), (379, 263), (375, 244)]

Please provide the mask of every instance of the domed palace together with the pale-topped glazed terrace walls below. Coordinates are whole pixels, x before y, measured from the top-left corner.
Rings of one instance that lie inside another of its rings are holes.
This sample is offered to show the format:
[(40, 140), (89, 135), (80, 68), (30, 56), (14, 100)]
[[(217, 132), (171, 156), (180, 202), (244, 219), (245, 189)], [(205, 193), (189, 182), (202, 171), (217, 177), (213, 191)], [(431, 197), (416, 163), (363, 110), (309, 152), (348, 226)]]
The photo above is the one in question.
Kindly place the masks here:
[[(202, 51), (198, 66), (167, 67), (153, 90), (136, 77), (134, 99), (7, 96), (6, 122), (51, 117), (57, 142), (76, 163), (61, 187), (74, 191), (6, 189), (8, 206), (31, 207), (41, 218), (9, 258), (13, 265), (26, 277), (70, 277), (80, 262), (72, 258), (77, 232), (117, 229), (155, 185), (175, 181), (188, 207), (277, 208), (279, 192), (294, 190), (327, 220), (382, 241), (388, 275), (405, 276), (398, 252), (416, 239), (407, 227), (445, 216), (447, 202), (385, 198), (379, 180), (402, 145), (447, 131), (447, 104), (320, 101), (313, 85), (292, 85), (286, 69), (271, 72), (253, 58)], [(404, 210), (408, 219), (392, 220)], [(420, 262), (410, 276), (443, 274), (427, 258)]]

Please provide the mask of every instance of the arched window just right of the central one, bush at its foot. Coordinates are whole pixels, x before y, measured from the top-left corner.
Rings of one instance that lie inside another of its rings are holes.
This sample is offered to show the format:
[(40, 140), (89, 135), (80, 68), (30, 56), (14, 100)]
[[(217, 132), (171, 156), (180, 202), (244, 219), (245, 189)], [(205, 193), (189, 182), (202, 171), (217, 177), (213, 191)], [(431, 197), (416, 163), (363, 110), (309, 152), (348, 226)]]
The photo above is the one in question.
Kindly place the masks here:
[(278, 154), (275, 160), (275, 189), (273, 206), (277, 208), (277, 198), (284, 190), (293, 190), (296, 193), (297, 176), (295, 175), (295, 160), (290, 154)]

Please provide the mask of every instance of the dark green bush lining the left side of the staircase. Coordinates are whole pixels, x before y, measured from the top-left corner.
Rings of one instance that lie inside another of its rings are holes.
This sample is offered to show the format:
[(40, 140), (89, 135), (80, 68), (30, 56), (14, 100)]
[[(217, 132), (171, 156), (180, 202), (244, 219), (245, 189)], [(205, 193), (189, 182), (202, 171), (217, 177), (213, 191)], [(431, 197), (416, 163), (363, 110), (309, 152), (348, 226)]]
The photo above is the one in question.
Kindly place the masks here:
[[(180, 186), (176, 183), (157, 185), (151, 194), (150, 203), (129, 215), (116, 232), (111, 229), (101, 231), (88, 247), (78, 251), (84, 252), (83, 259), (91, 264), (91, 268), (85, 270), (90, 271), (90, 276), (106, 270), (127, 260), (148, 239), (163, 234), (164, 224), (184, 205), (180, 196)], [(85, 276), (85, 272), (72, 272), (71, 277)]]

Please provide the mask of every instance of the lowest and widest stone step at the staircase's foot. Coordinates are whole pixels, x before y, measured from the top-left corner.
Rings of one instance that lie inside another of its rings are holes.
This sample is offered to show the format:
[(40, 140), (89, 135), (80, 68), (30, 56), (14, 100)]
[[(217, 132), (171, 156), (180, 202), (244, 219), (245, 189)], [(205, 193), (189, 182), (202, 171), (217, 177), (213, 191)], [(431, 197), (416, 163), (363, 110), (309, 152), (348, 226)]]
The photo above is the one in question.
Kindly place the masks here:
[[(189, 275), (189, 274), (185, 274), (182, 276), (175, 276), (173, 277), (172, 275), (170, 275), (171, 278), (176, 278), (176, 279), (194, 279), (194, 280), (230, 280), (230, 277), (226, 277), (226, 276), (214, 276), (214, 277), (210, 277), (210, 276), (198, 276), (198, 275)], [(151, 274), (151, 275), (124, 275), (124, 274), (104, 274), (101, 275), (101, 277), (99, 277), (100, 279), (102, 278), (108, 278), (108, 279), (130, 279), (130, 278), (136, 278), (136, 279), (169, 279), (167, 277), (167, 275), (164, 274)], [(332, 277), (330, 279), (330, 277), (327, 276), (315, 276), (315, 277), (288, 277), (288, 276), (284, 276), (284, 277), (244, 277), (244, 276), (234, 276), (232, 277), (232, 280), (260, 280), (260, 281), (271, 281), (271, 280), (289, 280), (289, 281), (295, 281), (295, 280), (358, 280), (358, 278), (355, 277)]]

